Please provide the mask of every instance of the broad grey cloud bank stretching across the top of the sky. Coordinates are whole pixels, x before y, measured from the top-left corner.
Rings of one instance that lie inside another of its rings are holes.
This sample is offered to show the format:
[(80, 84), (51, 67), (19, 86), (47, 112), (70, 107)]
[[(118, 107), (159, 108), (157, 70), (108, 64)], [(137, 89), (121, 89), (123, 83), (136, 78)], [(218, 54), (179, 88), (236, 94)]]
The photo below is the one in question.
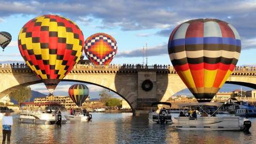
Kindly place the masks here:
[[(115, 3), (115, 4), (113, 4)], [(136, 4), (135, 4), (136, 3)], [(193, 6), (191, 6), (193, 5)], [(216, 9), (218, 7), (218, 9)], [(254, 1), (2, 1), (0, 17), (12, 14), (53, 13), (90, 23), (98, 19), (102, 28), (122, 30), (173, 29), (179, 22), (195, 18), (218, 18), (232, 23), (242, 36), (252, 36), (256, 23)], [(241, 21), (243, 23), (241, 24)], [(242, 31), (243, 30), (243, 31)], [(246, 34), (247, 32), (250, 32)]]

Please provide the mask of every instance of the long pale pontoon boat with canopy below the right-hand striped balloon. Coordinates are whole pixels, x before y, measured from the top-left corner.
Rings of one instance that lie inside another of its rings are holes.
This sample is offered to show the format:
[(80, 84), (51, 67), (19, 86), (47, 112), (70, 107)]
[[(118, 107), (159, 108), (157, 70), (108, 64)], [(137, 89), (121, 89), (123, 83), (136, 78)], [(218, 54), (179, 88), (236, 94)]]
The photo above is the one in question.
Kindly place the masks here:
[[(217, 117), (215, 114), (221, 108), (223, 103), (218, 102), (193, 102), (193, 103), (180, 103), (180, 111), (184, 115), (175, 117), (175, 122), (171, 127), (180, 130), (210, 130), (210, 131), (245, 131), (249, 132), (251, 127), (250, 121), (242, 122), (238, 116), (223, 116)], [(215, 111), (212, 107), (217, 108)], [(199, 108), (202, 111), (202, 115), (186, 115), (185, 108)], [(180, 113), (180, 114), (182, 114)], [(241, 123), (242, 122), (242, 123)]]

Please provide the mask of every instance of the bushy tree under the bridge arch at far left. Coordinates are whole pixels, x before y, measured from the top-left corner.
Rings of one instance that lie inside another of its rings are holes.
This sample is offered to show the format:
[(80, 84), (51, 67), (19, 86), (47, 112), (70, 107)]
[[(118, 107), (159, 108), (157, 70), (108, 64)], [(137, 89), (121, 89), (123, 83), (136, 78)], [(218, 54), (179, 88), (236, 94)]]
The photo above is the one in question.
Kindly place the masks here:
[(21, 87), (19, 90), (12, 91), (10, 98), (17, 101), (18, 105), (20, 102), (25, 102), (32, 97), (31, 89), (29, 86)]

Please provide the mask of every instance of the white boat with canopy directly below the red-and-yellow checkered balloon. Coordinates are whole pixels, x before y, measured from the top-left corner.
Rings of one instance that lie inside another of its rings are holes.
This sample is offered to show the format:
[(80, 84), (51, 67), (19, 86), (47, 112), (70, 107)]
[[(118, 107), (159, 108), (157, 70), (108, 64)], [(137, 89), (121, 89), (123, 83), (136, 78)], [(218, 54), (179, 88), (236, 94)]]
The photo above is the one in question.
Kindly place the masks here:
[[(55, 124), (57, 122), (57, 115), (55, 113), (54, 108), (61, 107), (60, 103), (55, 102), (45, 102), (45, 103), (34, 103), (34, 102), (21, 102), (20, 106), (22, 105), (35, 105), (39, 106), (38, 110), (21, 110), (19, 115), (19, 120), (21, 123), (34, 123), (34, 124)], [(45, 107), (49, 108), (50, 110), (43, 110)], [(51, 109), (51, 107), (53, 109)], [(66, 123), (67, 119), (62, 116), (61, 123)]]

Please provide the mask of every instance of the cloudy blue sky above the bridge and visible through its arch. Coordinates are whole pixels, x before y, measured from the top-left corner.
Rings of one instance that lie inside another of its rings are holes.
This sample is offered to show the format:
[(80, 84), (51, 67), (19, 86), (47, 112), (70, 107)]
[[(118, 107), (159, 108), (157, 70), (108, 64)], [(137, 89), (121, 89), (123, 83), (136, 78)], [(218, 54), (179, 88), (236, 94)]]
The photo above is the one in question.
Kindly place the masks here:
[[(174, 27), (191, 19), (220, 19), (233, 25), (241, 36), (242, 51), (237, 65), (256, 64), (256, 1), (0, 0), (0, 3), (0, 31), (12, 35), (12, 42), (4, 52), (0, 51), (1, 63), (24, 62), (17, 39), (26, 22), (39, 15), (58, 14), (76, 22), (85, 39), (99, 32), (113, 36), (118, 50), (111, 63), (121, 65), (142, 63), (142, 47), (146, 43), (148, 65), (171, 65), (167, 43)], [(58, 90), (67, 89), (70, 85), (67, 82), (60, 83), (55, 94), (61, 94)], [(91, 87), (97, 95), (99, 87)], [(31, 88), (46, 90), (42, 84), (32, 85)]]

